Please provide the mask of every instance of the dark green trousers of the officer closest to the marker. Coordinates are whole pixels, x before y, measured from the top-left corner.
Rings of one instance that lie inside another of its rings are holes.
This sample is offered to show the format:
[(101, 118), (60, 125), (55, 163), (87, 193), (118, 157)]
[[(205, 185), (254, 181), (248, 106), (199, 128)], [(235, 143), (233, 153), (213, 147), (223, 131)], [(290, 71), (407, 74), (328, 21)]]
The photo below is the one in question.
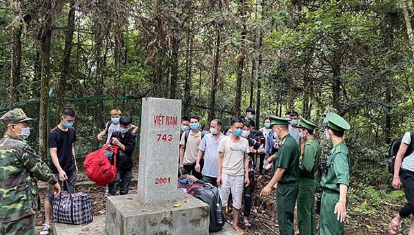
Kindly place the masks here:
[(279, 182), (276, 189), (277, 220), (279, 220), (279, 232), (281, 235), (293, 235), (293, 214), (299, 182)]

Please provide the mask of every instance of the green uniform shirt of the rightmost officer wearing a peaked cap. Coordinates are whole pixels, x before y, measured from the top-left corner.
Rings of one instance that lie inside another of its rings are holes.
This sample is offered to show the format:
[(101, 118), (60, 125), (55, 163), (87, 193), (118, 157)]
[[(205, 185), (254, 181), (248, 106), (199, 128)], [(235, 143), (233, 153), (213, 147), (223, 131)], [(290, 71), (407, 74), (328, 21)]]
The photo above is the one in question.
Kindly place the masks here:
[(349, 186), (349, 164), (348, 148), (341, 141), (332, 148), (326, 162), (328, 173), (322, 173), (322, 187), (339, 193), (339, 185)]

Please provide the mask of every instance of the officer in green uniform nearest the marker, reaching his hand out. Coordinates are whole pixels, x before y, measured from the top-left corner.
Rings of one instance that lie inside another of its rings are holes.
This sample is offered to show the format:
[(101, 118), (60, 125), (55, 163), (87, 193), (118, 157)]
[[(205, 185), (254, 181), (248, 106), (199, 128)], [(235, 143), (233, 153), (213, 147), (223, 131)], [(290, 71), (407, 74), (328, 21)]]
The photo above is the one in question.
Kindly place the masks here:
[(268, 196), (273, 185), (276, 189), (277, 219), (279, 232), (282, 235), (293, 235), (293, 214), (297, 191), (299, 190), (299, 145), (289, 135), (288, 122), (285, 118), (276, 118), (273, 128), (279, 138), (279, 151), (276, 155), (276, 172), (260, 196)]

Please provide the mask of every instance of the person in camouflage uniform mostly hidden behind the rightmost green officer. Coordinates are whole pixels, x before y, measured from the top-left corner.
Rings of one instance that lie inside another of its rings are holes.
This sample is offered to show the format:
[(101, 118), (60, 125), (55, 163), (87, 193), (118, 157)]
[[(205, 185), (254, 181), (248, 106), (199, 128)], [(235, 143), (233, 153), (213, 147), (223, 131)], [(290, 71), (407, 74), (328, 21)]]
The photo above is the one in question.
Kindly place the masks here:
[[(338, 111), (334, 108), (330, 108), (327, 107), (324, 111), (324, 113), (322, 115), (324, 115), (324, 117), (326, 116), (326, 114), (333, 112), (333, 113), (338, 113)], [(323, 162), (323, 161), (327, 161), (328, 157), (331, 153), (331, 149), (333, 148), (332, 142), (329, 140), (326, 140), (326, 118), (324, 118), (324, 122), (322, 123), (322, 125), (319, 127), (319, 135), (318, 135), (318, 142), (321, 146), (321, 159), (319, 162)], [(318, 167), (318, 171), (317, 171), (317, 182), (321, 182), (322, 180), (322, 167), (319, 165)], [(317, 189), (316, 189), (316, 194), (315, 194), (315, 201), (317, 203), (317, 208), (316, 208), (316, 212), (317, 214), (319, 214), (319, 209), (320, 209), (320, 203), (321, 203), (321, 197), (322, 197), (322, 187), (321, 184), (318, 183), (317, 184)]]

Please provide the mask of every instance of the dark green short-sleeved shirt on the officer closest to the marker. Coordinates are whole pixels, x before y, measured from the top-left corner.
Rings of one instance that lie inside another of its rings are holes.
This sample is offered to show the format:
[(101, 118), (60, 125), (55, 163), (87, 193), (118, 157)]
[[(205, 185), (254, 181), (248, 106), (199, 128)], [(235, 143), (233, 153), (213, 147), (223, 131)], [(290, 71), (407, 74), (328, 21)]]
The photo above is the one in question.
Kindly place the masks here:
[(295, 182), (299, 180), (299, 145), (289, 134), (279, 140), (276, 164), (277, 168), (286, 169), (279, 182)]

